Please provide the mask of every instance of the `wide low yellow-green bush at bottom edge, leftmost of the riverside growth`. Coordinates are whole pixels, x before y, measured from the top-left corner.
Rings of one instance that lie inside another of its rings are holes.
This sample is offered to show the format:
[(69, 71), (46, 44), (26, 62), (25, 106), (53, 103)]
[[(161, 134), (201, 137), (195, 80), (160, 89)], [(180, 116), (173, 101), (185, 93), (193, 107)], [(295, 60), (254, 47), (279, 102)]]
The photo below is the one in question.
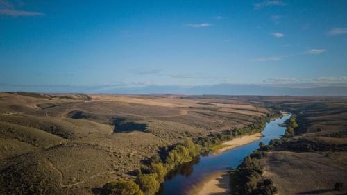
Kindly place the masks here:
[(124, 179), (119, 179), (111, 181), (103, 185), (101, 190), (103, 195), (141, 195), (143, 192), (139, 190), (139, 185), (133, 181), (127, 181)]

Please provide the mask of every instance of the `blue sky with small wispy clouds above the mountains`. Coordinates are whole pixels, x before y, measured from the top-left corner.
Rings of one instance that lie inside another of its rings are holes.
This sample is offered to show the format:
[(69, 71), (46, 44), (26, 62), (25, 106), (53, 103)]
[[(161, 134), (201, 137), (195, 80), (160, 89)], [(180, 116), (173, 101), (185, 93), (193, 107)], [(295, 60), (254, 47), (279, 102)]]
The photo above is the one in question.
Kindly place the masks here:
[(347, 1), (0, 0), (1, 86), (347, 85)]

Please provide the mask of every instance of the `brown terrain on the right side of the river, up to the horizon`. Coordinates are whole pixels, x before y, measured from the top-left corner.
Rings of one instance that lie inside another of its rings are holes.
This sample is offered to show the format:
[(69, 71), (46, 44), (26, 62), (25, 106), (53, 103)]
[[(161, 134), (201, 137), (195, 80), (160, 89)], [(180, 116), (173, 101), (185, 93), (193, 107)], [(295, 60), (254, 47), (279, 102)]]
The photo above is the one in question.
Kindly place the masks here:
[[(347, 99), (342, 97), (267, 97), (264, 102), (297, 115), (299, 128), (263, 162), (278, 194), (345, 194), (347, 185)], [(310, 144), (307, 144), (310, 143)], [(294, 146), (294, 147), (293, 147)], [(308, 147), (307, 147), (308, 146)]]

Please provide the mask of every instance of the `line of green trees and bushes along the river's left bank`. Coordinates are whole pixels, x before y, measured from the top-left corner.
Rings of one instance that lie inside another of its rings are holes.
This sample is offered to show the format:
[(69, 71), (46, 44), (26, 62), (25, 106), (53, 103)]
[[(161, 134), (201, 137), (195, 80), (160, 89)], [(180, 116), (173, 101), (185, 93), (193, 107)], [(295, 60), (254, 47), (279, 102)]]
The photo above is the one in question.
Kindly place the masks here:
[[(123, 192), (124, 194), (131, 193), (144, 193), (146, 195), (154, 195), (158, 192), (160, 183), (164, 181), (165, 175), (174, 170), (178, 165), (184, 164), (192, 160), (192, 158), (201, 153), (213, 149), (220, 149), (221, 143), (240, 137), (242, 135), (250, 135), (254, 133), (259, 133), (266, 126), (266, 122), (270, 121), (274, 117), (278, 117), (280, 114), (275, 112), (273, 115), (266, 115), (266, 117), (259, 117), (256, 119), (254, 124), (250, 124), (244, 128), (235, 128), (232, 130), (227, 130), (223, 133), (210, 134), (205, 137), (198, 137), (197, 139), (185, 139), (184, 142), (178, 143), (174, 146), (169, 147), (165, 151), (165, 155), (156, 155), (151, 158), (149, 167), (141, 169), (138, 171), (137, 178), (134, 182), (122, 183), (124, 185), (130, 185), (124, 190), (128, 192)], [(113, 189), (119, 185), (115, 185), (119, 181), (111, 181), (103, 186), (103, 194), (115, 194), (118, 192)], [(135, 186), (135, 187), (134, 187)], [(139, 190), (136, 191), (136, 186)], [(264, 185), (264, 189), (268, 189), (269, 184)]]

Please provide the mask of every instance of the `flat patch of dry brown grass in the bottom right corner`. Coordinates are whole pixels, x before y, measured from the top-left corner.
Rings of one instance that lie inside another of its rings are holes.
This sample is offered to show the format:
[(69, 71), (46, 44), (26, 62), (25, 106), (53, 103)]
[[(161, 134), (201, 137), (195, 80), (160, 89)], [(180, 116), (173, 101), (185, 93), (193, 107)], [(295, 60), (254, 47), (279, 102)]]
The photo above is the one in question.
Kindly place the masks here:
[(271, 178), (279, 194), (339, 194), (336, 182), (347, 183), (346, 153), (271, 152), (264, 176)]

